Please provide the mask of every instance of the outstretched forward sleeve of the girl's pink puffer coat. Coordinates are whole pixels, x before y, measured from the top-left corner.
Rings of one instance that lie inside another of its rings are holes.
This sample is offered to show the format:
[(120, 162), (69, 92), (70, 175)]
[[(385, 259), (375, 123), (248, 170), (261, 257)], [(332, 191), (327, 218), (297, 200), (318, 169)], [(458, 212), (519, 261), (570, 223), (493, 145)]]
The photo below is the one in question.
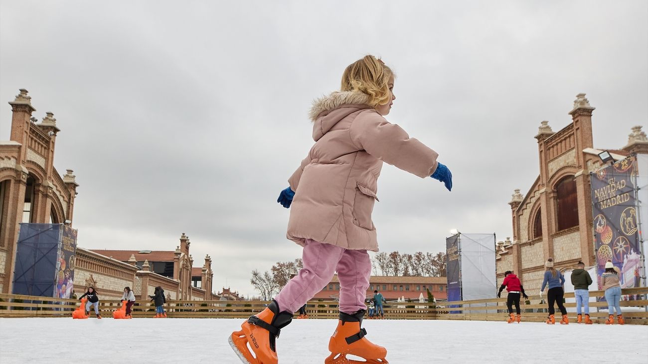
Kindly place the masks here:
[(406, 172), (425, 178), (437, 170), (437, 152), (378, 113), (361, 113), (349, 132), (358, 148)]

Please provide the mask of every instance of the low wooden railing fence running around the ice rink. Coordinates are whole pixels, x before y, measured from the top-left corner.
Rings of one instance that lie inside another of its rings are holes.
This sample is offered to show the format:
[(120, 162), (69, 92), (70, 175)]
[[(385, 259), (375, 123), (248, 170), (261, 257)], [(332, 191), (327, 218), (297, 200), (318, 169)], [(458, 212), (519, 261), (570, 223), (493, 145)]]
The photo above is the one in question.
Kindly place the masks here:
[[(630, 301), (621, 301), (623, 317), (629, 324), (648, 324), (648, 288), (629, 288), (622, 291)], [(602, 297), (603, 291), (590, 291), (590, 297)], [(573, 298), (573, 293), (566, 293), (565, 298)], [(544, 297), (546, 299), (546, 297)], [(541, 322), (547, 317), (547, 305), (540, 297), (529, 297), (530, 304), (522, 304), (524, 321)], [(0, 317), (69, 317), (78, 307), (76, 299), (54, 299), (51, 297), (6, 295), (0, 294)], [(168, 301), (165, 310), (168, 317), (194, 318), (246, 318), (260, 312), (267, 301)], [(338, 302), (310, 301), (307, 304), (309, 318), (338, 318)], [(441, 306), (443, 305), (443, 306)], [(111, 317), (112, 312), (121, 307), (119, 300), (100, 300), (99, 310), (104, 317)], [(566, 303), (566, 308), (574, 308), (575, 303)], [(603, 323), (607, 318), (607, 302), (590, 302), (590, 316), (595, 323)], [(388, 302), (384, 306), (386, 319), (441, 319), (441, 320), (479, 320), (503, 321), (507, 317), (506, 299), (483, 299), (458, 302)], [(155, 307), (148, 301), (136, 302), (133, 306), (133, 317), (154, 317)], [(576, 313), (570, 312), (570, 319)], [(559, 312), (557, 311), (557, 317)]]

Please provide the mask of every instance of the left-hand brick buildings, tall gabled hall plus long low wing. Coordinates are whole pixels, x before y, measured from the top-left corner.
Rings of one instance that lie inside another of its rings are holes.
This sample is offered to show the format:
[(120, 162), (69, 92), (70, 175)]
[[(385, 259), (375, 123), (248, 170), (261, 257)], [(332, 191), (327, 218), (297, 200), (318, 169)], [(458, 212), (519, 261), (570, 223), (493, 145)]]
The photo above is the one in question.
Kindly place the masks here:
[[(19, 223), (72, 226), (79, 186), (73, 170), (61, 176), (54, 168), (54, 147), (60, 131), (54, 114), (45, 113), (38, 122), (32, 116), (36, 109), (25, 89), (9, 104), (10, 141), (0, 142), (0, 293), (12, 291)], [(129, 286), (139, 299), (162, 286), (169, 299), (220, 299), (211, 291), (209, 255), (202, 267), (192, 267), (189, 237), (183, 233), (179, 240), (175, 251), (89, 250), (77, 246), (73, 291), (80, 293), (93, 286), (101, 297), (119, 299), (124, 287)], [(228, 293), (228, 299), (233, 297)]]

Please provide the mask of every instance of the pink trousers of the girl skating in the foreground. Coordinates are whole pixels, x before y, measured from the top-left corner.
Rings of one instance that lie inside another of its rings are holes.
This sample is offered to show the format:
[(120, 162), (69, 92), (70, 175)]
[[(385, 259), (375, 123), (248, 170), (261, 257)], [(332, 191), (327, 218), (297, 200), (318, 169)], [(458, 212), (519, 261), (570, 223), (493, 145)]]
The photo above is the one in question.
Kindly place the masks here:
[(336, 271), (340, 280), (340, 311), (366, 310), (364, 299), (371, 275), (366, 250), (344, 249), (307, 239), (302, 260), (303, 269), (275, 297), (280, 311), (297, 311), (329, 284)]

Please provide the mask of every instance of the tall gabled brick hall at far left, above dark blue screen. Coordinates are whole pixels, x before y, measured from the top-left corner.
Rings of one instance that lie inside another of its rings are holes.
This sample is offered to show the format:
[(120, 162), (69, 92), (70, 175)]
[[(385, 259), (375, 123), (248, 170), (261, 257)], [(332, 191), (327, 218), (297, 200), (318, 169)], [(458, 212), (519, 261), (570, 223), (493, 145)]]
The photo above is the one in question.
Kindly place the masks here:
[(38, 122), (25, 89), (9, 104), (10, 140), (0, 142), (0, 293), (11, 290), (18, 224), (71, 223), (78, 187), (73, 170), (62, 176), (54, 168), (54, 114)]

